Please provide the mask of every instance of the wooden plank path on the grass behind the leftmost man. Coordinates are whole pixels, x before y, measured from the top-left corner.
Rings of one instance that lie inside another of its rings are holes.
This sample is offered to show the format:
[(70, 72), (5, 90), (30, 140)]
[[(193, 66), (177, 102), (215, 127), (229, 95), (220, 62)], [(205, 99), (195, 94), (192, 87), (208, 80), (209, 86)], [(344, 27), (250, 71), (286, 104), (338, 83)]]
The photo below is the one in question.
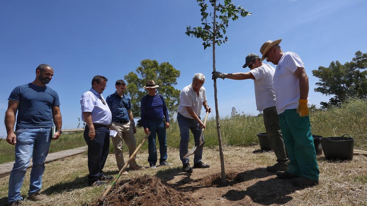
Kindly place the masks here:
[[(65, 157), (70, 157), (73, 155), (81, 154), (84, 151), (87, 151), (87, 146), (65, 150), (65, 151), (49, 153), (46, 157), (45, 163), (56, 161), (58, 159), (62, 159)], [(10, 175), (11, 169), (13, 169), (13, 165), (14, 165), (14, 162), (0, 164), (0, 178)], [(31, 167), (32, 167), (32, 158), (29, 161), (28, 168), (31, 168)]]

